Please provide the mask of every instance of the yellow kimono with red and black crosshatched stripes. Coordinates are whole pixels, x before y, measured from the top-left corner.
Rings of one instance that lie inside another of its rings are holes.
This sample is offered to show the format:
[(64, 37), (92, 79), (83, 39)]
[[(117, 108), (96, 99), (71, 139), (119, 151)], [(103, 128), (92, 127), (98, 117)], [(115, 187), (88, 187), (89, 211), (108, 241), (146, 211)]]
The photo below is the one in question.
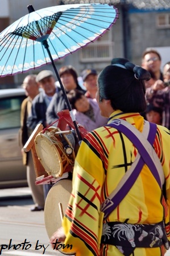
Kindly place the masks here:
[[(143, 130), (143, 117), (139, 113), (114, 111), (110, 123), (122, 118), (131, 123), (140, 132)], [(107, 222), (130, 224), (155, 224), (165, 219), (165, 229), (169, 235), (170, 201), (170, 132), (163, 126), (157, 126), (154, 149), (163, 166), (165, 193), (146, 165), (143, 166), (134, 185), (128, 191), (118, 207), (107, 217)], [(64, 244), (72, 245), (76, 256), (122, 256), (121, 250), (114, 245), (101, 243), (102, 218), (100, 206), (117, 187), (125, 172), (134, 162), (138, 150), (132, 142), (118, 130), (105, 126), (87, 134), (81, 142), (73, 170), (73, 189), (68, 203), (63, 227), (66, 235)], [(106, 233), (107, 234), (107, 233)], [(165, 246), (153, 248), (135, 248), (133, 256), (161, 256)]]

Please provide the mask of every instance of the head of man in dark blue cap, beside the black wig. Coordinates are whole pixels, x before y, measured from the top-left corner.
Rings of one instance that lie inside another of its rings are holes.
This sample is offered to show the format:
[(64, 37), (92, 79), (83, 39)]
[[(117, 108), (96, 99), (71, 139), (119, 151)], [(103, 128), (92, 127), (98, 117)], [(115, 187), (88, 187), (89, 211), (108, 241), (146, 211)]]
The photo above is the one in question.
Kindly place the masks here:
[(92, 99), (96, 98), (97, 71), (95, 69), (85, 69), (82, 71), (81, 77), (87, 90), (85, 96)]

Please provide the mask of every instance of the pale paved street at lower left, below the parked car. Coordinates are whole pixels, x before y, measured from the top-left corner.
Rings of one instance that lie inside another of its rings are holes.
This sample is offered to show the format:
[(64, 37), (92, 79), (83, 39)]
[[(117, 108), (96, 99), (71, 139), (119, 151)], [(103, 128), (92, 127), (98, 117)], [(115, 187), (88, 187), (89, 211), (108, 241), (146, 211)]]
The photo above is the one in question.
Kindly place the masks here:
[[(0, 190), (0, 255), (63, 255), (59, 251), (53, 251), (49, 245), (44, 225), (44, 211), (31, 212), (32, 205), (28, 187)], [(1, 251), (1, 245), (6, 249)], [(170, 250), (165, 256), (170, 256)]]

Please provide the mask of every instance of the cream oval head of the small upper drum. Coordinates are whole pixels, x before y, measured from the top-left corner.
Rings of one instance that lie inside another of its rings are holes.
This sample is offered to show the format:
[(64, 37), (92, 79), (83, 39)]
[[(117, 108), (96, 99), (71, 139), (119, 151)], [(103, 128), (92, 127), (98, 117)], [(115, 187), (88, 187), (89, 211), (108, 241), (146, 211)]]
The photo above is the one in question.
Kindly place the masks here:
[(45, 171), (52, 177), (59, 177), (63, 173), (60, 153), (55, 144), (45, 134), (38, 134), (35, 138), (35, 150)]

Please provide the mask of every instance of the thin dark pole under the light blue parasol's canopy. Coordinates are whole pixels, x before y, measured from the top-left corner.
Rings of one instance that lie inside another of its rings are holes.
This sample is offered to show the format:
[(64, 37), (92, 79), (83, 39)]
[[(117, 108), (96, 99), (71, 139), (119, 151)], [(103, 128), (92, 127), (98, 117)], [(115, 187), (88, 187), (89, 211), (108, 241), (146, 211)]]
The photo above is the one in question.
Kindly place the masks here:
[(58, 73), (58, 71), (57, 71), (57, 69), (56, 69), (55, 63), (54, 63), (53, 58), (52, 58), (52, 56), (51, 56), (51, 52), (49, 51), (49, 45), (48, 45), (47, 40), (44, 40), (44, 41), (42, 42), (42, 45), (43, 45), (43, 46), (45, 47), (45, 49), (47, 50), (47, 53), (48, 53), (48, 55), (49, 55), (49, 58), (51, 59), (51, 63), (52, 63), (53, 69), (55, 70), (57, 79), (58, 79), (58, 81), (59, 81), (59, 83), (60, 83), (61, 90), (63, 91), (64, 97), (65, 97), (65, 101), (66, 101), (67, 106), (68, 106), (68, 109), (69, 109), (69, 113), (70, 113), (71, 118), (72, 118), (72, 121), (73, 121), (73, 123), (74, 123), (74, 127), (75, 127), (75, 129), (76, 129), (77, 136), (78, 136), (78, 138), (79, 138), (80, 141), (81, 141), (82, 138), (81, 138), (81, 135), (80, 135), (80, 131), (78, 130), (78, 126), (77, 126), (76, 119), (75, 119), (74, 114), (73, 114), (72, 107), (71, 107), (71, 105), (70, 105), (70, 103), (69, 103), (69, 100), (68, 100), (68, 97), (67, 97), (67, 93), (65, 92), (63, 83), (61, 82), (60, 75), (59, 75), (59, 73)]

